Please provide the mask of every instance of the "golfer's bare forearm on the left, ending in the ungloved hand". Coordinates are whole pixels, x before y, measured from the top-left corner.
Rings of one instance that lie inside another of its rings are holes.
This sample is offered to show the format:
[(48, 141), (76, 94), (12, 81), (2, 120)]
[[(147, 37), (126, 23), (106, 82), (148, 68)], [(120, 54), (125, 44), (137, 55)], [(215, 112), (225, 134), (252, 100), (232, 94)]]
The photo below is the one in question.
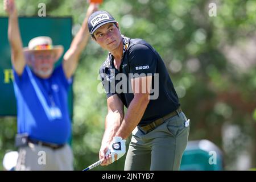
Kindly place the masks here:
[[(117, 133), (119, 127), (121, 126), (123, 120), (123, 103), (120, 98), (115, 94), (111, 96), (107, 100), (108, 102), (108, 114), (105, 118), (105, 133), (101, 142), (100, 149), (100, 159), (105, 158), (105, 154), (109, 149), (109, 144), (112, 141), (113, 137)], [(102, 166), (108, 165), (109, 160), (104, 160), (101, 164)]]

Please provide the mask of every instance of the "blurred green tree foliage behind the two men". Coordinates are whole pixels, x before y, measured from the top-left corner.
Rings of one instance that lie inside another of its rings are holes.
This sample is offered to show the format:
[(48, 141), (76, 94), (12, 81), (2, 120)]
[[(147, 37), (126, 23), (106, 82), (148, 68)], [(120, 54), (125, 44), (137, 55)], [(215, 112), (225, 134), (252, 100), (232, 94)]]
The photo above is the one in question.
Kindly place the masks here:
[[(0, 16), (6, 16), (2, 3)], [(16, 1), (19, 15), (37, 16), (39, 3), (46, 4), (47, 16), (72, 16), (73, 36), (88, 7), (86, 0)], [(210, 3), (216, 5), (216, 16)], [(114, 16), (123, 35), (142, 38), (160, 53), (191, 120), (189, 141), (207, 139), (216, 144), (224, 170), (255, 169), (256, 1), (105, 0), (100, 9)], [(98, 93), (98, 69), (107, 53), (90, 40), (75, 74), (76, 170), (98, 160), (107, 113), (105, 94)], [(15, 133), (16, 118), (1, 117), (0, 161), (7, 151), (16, 150)], [(125, 157), (94, 170), (123, 170), (124, 161)]]

